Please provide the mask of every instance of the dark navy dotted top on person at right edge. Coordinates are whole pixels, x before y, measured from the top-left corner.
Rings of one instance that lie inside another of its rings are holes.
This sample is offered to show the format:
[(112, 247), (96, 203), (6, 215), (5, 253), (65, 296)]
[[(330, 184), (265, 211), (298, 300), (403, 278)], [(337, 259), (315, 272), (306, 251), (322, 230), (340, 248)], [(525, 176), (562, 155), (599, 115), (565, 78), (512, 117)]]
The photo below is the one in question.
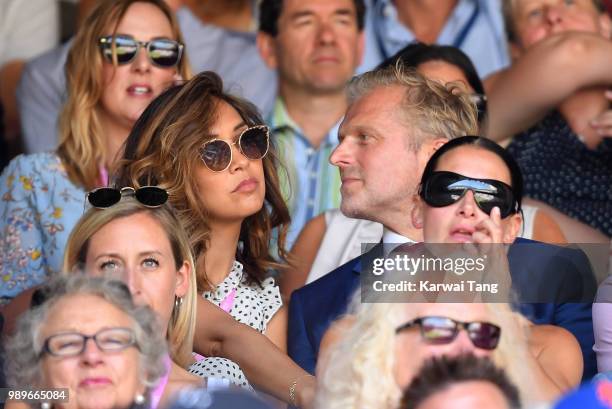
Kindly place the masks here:
[(525, 196), (612, 236), (612, 139), (591, 150), (554, 111), (508, 151), (523, 172)]

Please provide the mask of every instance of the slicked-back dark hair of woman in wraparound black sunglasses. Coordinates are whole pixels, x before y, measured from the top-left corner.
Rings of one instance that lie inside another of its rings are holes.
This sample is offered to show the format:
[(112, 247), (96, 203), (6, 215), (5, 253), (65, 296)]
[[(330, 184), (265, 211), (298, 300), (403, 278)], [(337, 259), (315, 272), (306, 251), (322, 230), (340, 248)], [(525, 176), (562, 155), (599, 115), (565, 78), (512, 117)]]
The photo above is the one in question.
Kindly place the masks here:
[(442, 145), (440, 149), (438, 149), (431, 158), (429, 158), (429, 162), (425, 165), (425, 170), (423, 171), (423, 176), (421, 177), (421, 186), (427, 181), (433, 172), (435, 172), (438, 167), (438, 162), (440, 158), (447, 152), (456, 149), (460, 146), (475, 146), (491, 153), (497, 155), (508, 168), (510, 172), (510, 187), (512, 188), (512, 193), (514, 194), (514, 198), (517, 203), (517, 213), (521, 212), (521, 203), (523, 201), (523, 174), (521, 173), (521, 168), (516, 163), (512, 155), (508, 153), (507, 150), (496, 144), (490, 139), (483, 138), (480, 136), (461, 136), (459, 138), (452, 139)]

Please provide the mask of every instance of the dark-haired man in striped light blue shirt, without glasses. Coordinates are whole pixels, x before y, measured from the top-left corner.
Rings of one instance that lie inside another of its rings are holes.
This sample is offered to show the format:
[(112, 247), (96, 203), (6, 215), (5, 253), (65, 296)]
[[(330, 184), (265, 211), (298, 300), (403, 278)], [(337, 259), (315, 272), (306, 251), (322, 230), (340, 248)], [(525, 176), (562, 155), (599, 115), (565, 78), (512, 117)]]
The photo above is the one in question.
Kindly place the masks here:
[(340, 205), (340, 177), (328, 160), (347, 107), (346, 83), (363, 53), (363, 0), (264, 0), (259, 52), (278, 74), (268, 123), (291, 213), (289, 247), (304, 224)]

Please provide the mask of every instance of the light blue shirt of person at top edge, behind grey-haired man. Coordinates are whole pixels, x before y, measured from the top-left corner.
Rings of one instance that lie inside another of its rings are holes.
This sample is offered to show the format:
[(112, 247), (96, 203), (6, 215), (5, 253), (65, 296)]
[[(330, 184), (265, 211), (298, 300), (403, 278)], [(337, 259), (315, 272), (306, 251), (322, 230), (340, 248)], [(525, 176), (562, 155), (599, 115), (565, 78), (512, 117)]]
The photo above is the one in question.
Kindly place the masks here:
[[(357, 69), (375, 68), (408, 43), (414, 34), (397, 16), (391, 0), (366, 0), (365, 53)], [(442, 28), (437, 44), (465, 52), (481, 78), (510, 64), (500, 0), (459, 0)]]

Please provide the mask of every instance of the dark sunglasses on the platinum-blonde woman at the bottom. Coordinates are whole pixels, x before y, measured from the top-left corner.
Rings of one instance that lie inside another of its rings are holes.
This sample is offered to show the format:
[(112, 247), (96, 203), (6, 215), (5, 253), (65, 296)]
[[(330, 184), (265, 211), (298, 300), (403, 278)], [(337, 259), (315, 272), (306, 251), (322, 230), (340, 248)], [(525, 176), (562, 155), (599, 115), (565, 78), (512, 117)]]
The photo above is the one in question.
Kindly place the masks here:
[(420, 326), (421, 337), (431, 344), (450, 344), (459, 330), (465, 329), (476, 348), (493, 350), (501, 337), (501, 328), (489, 322), (460, 322), (447, 317), (422, 317), (407, 322), (395, 330), (398, 334), (408, 328)]

